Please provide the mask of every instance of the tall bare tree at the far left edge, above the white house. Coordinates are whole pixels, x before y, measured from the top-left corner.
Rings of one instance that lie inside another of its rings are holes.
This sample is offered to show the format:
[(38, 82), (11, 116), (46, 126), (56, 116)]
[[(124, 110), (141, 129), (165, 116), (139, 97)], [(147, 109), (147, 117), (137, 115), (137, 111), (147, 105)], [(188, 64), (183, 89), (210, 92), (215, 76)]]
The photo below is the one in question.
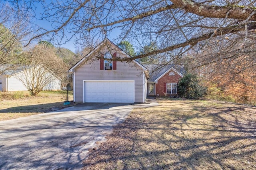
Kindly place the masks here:
[(0, 74), (14, 68), (22, 59), (22, 44), (31, 29), (10, 6), (0, 3)]

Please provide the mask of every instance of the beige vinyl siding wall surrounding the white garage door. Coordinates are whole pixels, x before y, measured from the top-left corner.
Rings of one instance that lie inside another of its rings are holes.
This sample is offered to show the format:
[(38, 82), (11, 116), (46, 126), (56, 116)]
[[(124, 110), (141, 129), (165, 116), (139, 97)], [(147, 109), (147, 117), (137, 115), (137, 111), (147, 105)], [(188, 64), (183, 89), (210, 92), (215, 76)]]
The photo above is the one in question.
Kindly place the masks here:
[(76, 68), (75, 76), (75, 102), (83, 102), (83, 80), (134, 80), (135, 102), (144, 102), (143, 69), (134, 62), (117, 62), (116, 70), (100, 70), (100, 60), (93, 58)]

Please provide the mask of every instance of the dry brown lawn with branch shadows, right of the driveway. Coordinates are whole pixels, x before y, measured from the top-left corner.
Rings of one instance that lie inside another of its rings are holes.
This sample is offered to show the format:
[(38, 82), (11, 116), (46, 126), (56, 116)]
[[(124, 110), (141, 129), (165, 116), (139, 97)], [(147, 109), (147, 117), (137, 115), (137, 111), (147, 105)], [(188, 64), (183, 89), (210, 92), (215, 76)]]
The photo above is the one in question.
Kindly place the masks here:
[(160, 100), (134, 109), (84, 170), (256, 169), (256, 107), (210, 100)]

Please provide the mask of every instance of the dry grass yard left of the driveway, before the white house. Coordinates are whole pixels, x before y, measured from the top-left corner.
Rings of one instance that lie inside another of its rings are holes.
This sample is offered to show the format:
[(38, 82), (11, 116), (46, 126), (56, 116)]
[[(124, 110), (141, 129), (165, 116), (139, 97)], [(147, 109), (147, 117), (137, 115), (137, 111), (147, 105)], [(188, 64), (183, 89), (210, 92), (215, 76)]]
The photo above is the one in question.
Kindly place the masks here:
[(30, 97), (28, 92), (0, 92), (0, 95), (0, 121), (45, 113), (52, 107), (64, 107), (61, 92), (40, 92), (38, 97)]

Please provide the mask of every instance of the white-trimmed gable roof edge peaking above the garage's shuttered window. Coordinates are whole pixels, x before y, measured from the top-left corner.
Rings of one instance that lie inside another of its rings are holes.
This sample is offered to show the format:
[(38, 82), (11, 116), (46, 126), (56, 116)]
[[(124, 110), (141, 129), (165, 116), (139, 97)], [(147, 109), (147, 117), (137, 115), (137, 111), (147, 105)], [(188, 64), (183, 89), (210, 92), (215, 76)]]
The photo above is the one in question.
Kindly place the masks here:
[[(110, 41), (108, 38), (106, 38), (104, 41), (102, 41), (99, 45), (97, 45), (93, 51), (91, 51), (90, 53), (88, 53), (84, 58), (82, 58), (80, 61), (78, 61), (76, 64), (74, 64), (74, 66), (72, 66), (68, 71), (69, 72), (74, 72), (74, 69), (76, 69), (76, 67), (78, 67), (81, 63), (83, 63), (86, 60), (90, 59), (90, 55), (92, 55), (92, 53), (94, 53), (94, 51), (96, 51), (97, 49), (99, 49), (100, 47), (104, 46), (106, 43), (110, 43), (110, 45), (113, 45), (115, 48), (117, 48), (119, 51), (121, 51), (122, 54), (124, 54), (126, 57), (130, 58), (130, 55), (128, 55), (127, 53), (125, 53), (122, 49), (120, 49), (117, 45), (115, 45), (112, 41)], [(140, 66), (143, 70), (146, 70), (146, 67), (143, 66), (142, 64), (140, 64), (138, 61), (133, 60), (134, 63), (136, 63), (138, 66)]]

